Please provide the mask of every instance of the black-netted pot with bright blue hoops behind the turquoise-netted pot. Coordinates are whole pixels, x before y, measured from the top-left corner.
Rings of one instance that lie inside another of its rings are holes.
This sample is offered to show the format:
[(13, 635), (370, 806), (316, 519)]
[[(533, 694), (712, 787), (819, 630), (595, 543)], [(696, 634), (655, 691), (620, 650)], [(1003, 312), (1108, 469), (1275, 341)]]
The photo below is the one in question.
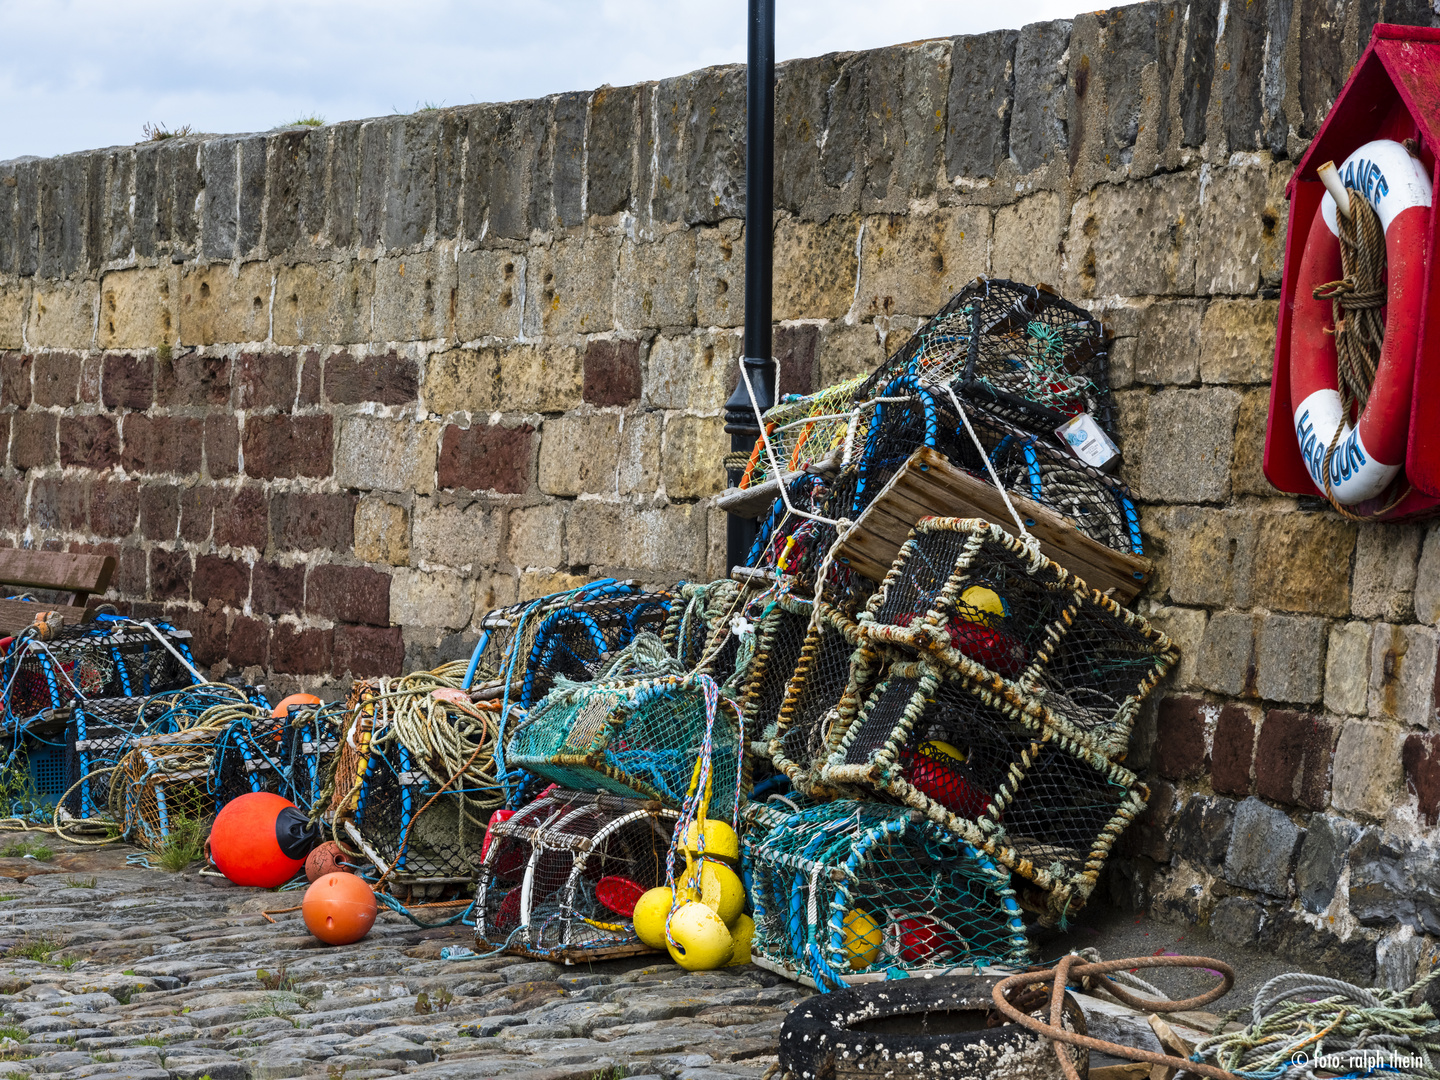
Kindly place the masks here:
[(644, 629), (660, 632), (670, 613), (668, 593), (624, 592), (576, 599), (543, 616), (524, 658), (521, 708), (550, 693), (557, 677), (595, 678), (611, 655)]

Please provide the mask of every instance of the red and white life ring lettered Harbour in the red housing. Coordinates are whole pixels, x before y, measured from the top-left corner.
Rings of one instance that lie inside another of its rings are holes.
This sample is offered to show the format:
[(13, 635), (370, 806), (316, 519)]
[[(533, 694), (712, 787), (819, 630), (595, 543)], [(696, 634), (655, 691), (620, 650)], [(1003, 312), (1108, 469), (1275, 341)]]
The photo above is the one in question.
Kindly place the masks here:
[(1290, 402), (1300, 456), (1320, 491), (1326, 490), (1325, 454), (1341, 429), (1331, 456), (1329, 492), (1338, 503), (1354, 505), (1381, 494), (1405, 459), (1431, 192), (1420, 161), (1388, 138), (1362, 145), (1345, 158), (1339, 174), (1346, 187), (1354, 187), (1375, 207), (1385, 230), (1390, 291), (1385, 344), (1369, 402), (1359, 422), (1351, 426), (1341, 408), (1331, 302), (1313, 295), (1319, 285), (1342, 276), (1335, 200), (1326, 193), (1315, 212), (1295, 284)]

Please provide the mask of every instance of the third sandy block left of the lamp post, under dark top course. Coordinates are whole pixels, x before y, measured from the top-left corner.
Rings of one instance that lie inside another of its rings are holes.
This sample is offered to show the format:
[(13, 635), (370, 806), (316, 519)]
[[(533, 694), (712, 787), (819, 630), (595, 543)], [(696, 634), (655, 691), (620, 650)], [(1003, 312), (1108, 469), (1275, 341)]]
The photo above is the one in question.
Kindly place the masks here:
[(533, 248), (526, 262), (526, 336), (613, 330), (618, 246), (611, 236), (576, 236)]

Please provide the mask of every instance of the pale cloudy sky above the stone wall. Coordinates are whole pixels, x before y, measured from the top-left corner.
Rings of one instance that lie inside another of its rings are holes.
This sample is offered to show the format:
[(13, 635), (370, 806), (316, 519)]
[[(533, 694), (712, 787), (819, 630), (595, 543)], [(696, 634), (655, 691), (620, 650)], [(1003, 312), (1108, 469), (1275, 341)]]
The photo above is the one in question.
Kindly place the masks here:
[[(780, 59), (1067, 17), (1079, 0), (778, 0)], [(744, 62), (744, 0), (0, 0), (0, 160), (513, 101)]]

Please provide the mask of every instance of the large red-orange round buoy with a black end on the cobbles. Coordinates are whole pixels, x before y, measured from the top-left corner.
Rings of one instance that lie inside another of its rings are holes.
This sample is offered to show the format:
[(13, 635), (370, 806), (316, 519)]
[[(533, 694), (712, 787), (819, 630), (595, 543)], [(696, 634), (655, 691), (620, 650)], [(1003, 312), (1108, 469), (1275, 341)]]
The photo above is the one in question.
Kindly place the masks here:
[(238, 886), (275, 888), (295, 877), (320, 840), (295, 804), (272, 792), (230, 799), (210, 827), (210, 860)]

